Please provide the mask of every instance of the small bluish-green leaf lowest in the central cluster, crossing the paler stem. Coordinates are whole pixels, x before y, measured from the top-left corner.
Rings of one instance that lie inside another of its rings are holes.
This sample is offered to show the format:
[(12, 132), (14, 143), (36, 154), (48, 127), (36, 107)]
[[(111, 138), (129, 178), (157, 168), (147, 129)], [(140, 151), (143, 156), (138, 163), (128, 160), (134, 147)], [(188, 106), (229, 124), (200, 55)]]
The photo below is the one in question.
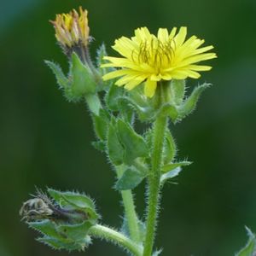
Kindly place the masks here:
[(115, 189), (127, 190), (135, 189), (139, 183), (143, 181), (143, 178), (147, 176), (147, 173), (140, 172), (134, 166), (128, 167), (123, 175), (115, 183)]

